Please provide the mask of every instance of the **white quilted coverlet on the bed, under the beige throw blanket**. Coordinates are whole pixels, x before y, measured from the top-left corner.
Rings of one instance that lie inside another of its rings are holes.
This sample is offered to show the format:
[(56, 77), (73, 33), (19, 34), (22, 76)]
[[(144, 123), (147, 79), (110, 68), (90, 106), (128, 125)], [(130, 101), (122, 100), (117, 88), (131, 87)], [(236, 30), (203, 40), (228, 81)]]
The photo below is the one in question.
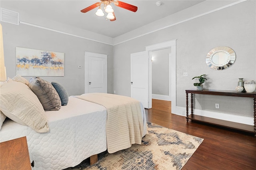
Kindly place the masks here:
[[(108, 144), (109, 137), (107, 136), (110, 132), (106, 129), (108, 119), (110, 119), (109, 110), (95, 101), (82, 99), (86, 95), (88, 94), (70, 96), (68, 104), (62, 105), (59, 110), (44, 111), (48, 132), (38, 132), (38, 129), (35, 130), (6, 118), (0, 129), (0, 142), (26, 136), (30, 160), (31, 162), (34, 160), (33, 169), (44, 170), (73, 167), (90, 156), (109, 150), (110, 144)], [(146, 117), (142, 104), (139, 103), (139, 105), (142, 119), (141, 136), (143, 137), (147, 132)], [(2, 106), (1, 111), (4, 111)], [(131, 124), (130, 121), (128, 122)], [(39, 128), (39, 131), (44, 128)], [(120, 127), (114, 129), (118, 130)], [(130, 145), (133, 143), (136, 142), (131, 141)], [(115, 150), (113, 147), (111, 149), (112, 152), (120, 150), (120, 148)]]

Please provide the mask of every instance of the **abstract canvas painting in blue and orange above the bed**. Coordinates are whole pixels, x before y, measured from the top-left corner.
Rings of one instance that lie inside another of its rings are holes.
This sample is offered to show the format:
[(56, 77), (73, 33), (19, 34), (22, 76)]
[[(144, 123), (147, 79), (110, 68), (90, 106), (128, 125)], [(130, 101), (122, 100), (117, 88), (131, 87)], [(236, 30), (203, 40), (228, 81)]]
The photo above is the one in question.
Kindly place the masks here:
[(16, 73), (22, 76), (64, 76), (64, 53), (16, 47)]

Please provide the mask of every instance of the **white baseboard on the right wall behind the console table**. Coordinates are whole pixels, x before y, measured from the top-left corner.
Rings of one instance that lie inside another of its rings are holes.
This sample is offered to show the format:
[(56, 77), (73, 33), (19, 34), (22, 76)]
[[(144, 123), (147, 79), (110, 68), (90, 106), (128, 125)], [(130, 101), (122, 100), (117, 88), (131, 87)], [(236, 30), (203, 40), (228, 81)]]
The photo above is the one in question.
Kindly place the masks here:
[[(173, 112), (172, 112), (173, 113)], [(191, 109), (188, 109), (188, 114), (190, 115)], [(186, 108), (185, 107), (176, 107), (175, 113), (176, 115), (186, 116)], [(218, 113), (218, 112), (211, 112), (211, 111), (203, 111), (199, 109), (194, 109), (194, 115), (204, 116), (204, 117), (210, 117), (214, 119), (220, 119), (224, 121), (230, 121), (230, 122), (236, 122), (236, 123), (242, 123), (246, 125), (254, 125), (254, 119), (253, 117), (244, 117), (244, 116), (238, 116), (238, 115), (230, 115), (226, 113)]]

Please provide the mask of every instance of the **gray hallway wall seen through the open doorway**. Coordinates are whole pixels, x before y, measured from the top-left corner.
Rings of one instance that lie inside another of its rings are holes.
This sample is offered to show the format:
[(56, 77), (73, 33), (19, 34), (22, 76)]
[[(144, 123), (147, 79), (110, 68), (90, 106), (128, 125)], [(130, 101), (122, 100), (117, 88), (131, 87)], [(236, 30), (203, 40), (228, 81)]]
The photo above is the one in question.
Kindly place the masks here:
[(152, 94), (169, 95), (170, 48), (152, 51)]

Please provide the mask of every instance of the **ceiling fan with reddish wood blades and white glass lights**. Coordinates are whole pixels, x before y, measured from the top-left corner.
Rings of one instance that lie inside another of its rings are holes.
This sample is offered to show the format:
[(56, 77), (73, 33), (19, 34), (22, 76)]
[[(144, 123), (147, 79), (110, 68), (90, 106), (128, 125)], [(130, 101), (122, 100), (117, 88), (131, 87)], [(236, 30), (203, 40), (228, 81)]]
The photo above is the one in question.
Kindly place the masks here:
[(110, 21), (114, 21), (114, 20), (116, 20), (116, 16), (114, 14), (114, 10), (111, 6), (111, 3), (114, 3), (114, 5), (124, 8), (126, 10), (130, 10), (132, 12), (136, 12), (138, 10), (137, 6), (133, 6), (131, 4), (127, 4), (127, 3), (121, 2), (119, 0), (100, 0), (100, 1), (101, 2), (96, 2), (95, 4), (92, 4), (91, 6), (84, 8), (83, 10), (81, 10), (81, 12), (86, 13), (96, 7), (99, 7), (95, 14), (97, 16), (104, 16), (105, 14), (101, 9), (101, 5), (103, 4), (104, 11), (107, 13), (106, 20), (109, 19)]

